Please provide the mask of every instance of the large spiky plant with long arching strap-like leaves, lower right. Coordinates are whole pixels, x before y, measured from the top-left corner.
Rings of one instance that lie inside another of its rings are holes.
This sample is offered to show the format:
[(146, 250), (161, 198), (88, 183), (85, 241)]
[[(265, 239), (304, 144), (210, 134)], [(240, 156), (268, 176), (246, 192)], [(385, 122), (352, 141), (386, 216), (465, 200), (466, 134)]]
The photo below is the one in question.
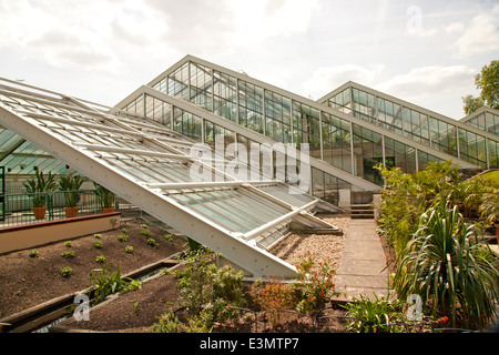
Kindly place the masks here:
[(394, 287), (400, 300), (420, 295), (432, 316), (448, 316), (452, 325), (459, 317), (482, 328), (493, 320), (499, 301), (492, 257), (458, 207), (440, 202), (421, 215), (407, 252), (398, 256)]

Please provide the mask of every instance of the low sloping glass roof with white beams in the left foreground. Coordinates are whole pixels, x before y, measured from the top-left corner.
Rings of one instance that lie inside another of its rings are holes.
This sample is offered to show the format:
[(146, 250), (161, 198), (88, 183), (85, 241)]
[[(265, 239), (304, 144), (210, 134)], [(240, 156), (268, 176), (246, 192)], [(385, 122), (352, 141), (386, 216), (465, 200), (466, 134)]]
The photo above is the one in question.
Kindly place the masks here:
[[(154, 120), (112, 111), (2, 87), (1, 144), (10, 152), (3, 161), (16, 169), (24, 161), (26, 169), (39, 164), (52, 172), (71, 166), (256, 276), (296, 275), (293, 266), (266, 252), (262, 237), (303, 219), (336, 229), (309, 214), (319, 204), (314, 196), (302, 192), (285, 199), (288, 185), (255, 172), (254, 180), (236, 179), (224, 170), (225, 161), (214, 169), (189, 155), (195, 143), (191, 138)], [(198, 181), (193, 166), (216, 181)]]

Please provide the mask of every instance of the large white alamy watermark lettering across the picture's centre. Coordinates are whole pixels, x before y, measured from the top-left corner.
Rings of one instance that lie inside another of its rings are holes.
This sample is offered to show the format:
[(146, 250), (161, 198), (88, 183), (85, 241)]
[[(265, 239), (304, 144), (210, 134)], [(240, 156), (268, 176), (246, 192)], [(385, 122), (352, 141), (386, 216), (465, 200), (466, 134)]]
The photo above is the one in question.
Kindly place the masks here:
[[(195, 160), (190, 168), (192, 182), (223, 182), (227, 176), (236, 181), (277, 181), (288, 183), (291, 194), (307, 193), (310, 187), (309, 145), (241, 143), (225, 146), (223, 138), (215, 139), (214, 150), (205, 143), (191, 146)], [(231, 179), (230, 178), (230, 179)], [(228, 180), (230, 181), (230, 180)]]

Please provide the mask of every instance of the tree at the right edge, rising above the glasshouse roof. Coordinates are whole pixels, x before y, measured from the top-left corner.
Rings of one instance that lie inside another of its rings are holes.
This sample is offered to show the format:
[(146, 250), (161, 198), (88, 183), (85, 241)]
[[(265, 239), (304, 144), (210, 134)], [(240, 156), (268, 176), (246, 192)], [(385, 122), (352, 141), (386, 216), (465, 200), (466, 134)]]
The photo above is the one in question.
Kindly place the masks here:
[(475, 85), (480, 90), (480, 97), (462, 98), (465, 113), (473, 113), (485, 105), (499, 110), (499, 60), (492, 60), (475, 75)]

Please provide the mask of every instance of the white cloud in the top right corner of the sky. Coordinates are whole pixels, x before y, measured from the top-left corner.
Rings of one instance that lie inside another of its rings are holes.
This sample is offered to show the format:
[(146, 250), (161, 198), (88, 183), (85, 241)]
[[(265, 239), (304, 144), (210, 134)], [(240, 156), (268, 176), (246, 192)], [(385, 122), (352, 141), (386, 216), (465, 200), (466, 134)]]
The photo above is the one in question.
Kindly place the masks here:
[(452, 45), (455, 57), (462, 59), (472, 54), (499, 50), (499, 4), (480, 12), (465, 28), (465, 33)]

